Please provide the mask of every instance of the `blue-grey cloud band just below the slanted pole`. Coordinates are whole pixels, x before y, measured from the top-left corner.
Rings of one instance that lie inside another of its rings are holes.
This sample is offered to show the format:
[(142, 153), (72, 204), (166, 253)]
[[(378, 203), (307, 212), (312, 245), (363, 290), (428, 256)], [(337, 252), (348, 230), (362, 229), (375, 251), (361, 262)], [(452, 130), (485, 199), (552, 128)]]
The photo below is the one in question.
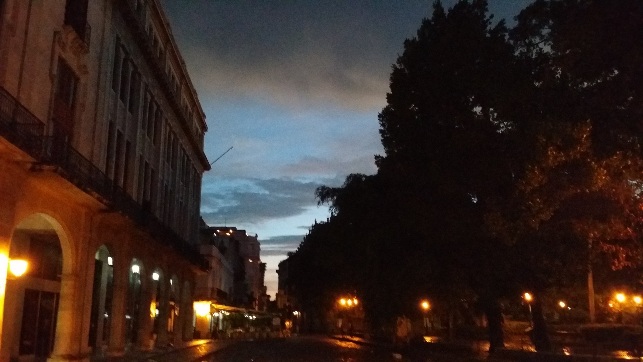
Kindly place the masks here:
[(305, 182), (293, 178), (236, 180), (231, 189), (205, 190), (201, 196), (208, 224), (257, 224), (302, 214), (316, 205), (314, 191), (321, 185), (337, 186), (339, 179)]

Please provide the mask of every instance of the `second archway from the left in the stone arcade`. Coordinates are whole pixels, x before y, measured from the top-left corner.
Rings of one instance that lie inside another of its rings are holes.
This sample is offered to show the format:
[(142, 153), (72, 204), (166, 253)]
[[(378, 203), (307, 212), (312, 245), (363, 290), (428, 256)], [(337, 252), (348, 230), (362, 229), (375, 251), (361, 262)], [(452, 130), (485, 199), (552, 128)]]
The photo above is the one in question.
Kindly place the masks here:
[(89, 347), (95, 351), (109, 345), (112, 301), (114, 296), (114, 260), (105, 245), (98, 248), (94, 260), (94, 282), (89, 319)]

